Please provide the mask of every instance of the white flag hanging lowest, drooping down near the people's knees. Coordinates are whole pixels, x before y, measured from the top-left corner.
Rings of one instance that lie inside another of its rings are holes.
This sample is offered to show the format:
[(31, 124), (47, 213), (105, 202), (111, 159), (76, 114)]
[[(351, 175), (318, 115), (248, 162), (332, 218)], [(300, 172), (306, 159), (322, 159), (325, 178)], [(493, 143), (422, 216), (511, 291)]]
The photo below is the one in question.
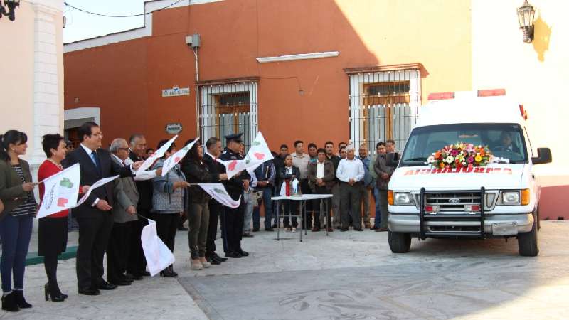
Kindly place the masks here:
[(156, 221), (148, 219), (148, 225), (142, 228), (140, 240), (144, 257), (147, 258), (148, 272), (152, 277), (174, 263), (174, 255), (158, 238)]

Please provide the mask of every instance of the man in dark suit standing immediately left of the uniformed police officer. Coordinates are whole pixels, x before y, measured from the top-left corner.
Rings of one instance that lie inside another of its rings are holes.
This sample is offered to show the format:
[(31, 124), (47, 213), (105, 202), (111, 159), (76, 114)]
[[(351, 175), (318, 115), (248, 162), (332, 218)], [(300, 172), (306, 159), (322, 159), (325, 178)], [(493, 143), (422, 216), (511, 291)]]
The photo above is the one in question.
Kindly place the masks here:
[[(203, 164), (206, 164), (208, 170), (216, 175), (218, 181), (227, 180), (225, 174), (225, 166), (216, 161), (221, 154), (221, 141), (216, 137), (211, 137), (206, 142), (206, 152), (203, 154)], [(215, 199), (209, 201), (209, 225), (208, 240), (206, 242), (206, 259), (212, 265), (219, 265), (226, 261), (227, 258), (218, 256), (216, 253), (216, 235), (218, 233), (218, 217), (223, 214), (223, 206)], [(225, 222), (224, 222), (225, 223)]]

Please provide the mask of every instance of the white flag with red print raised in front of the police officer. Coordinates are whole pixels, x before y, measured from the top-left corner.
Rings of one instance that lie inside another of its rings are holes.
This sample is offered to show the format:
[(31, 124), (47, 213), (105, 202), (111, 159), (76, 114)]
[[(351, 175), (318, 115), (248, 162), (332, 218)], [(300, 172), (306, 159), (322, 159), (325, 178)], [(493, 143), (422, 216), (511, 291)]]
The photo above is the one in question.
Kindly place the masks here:
[(260, 166), (263, 162), (270, 159), (274, 159), (274, 157), (271, 154), (269, 146), (267, 146), (267, 142), (265, 142), (265, 138), (262, 137), (261, 132), (257, 132), (257, 137), (253, 140), (247, 155), (245, 155), (245, 159), (225, 161), (218, 159), (218, 161), (225, 166), (227, 177), (231, 178), (243, 170), (252, 173), (252, 171), (257, 169), (257, 166)]

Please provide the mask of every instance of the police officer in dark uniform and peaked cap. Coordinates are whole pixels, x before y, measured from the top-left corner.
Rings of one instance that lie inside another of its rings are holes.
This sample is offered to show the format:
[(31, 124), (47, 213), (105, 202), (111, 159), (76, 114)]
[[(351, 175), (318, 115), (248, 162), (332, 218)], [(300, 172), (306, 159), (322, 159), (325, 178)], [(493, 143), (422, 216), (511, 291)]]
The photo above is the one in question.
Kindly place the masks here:
[[(219, 156), (220, 160), (243, 160), (243, 156), (239, 154), (241, 135), (243, 135), (243, 132), (225, 136), (227, 147), (225, 151), (223, 151), (223, 154)], [(227, 190), (233, 200), (238, 200), (241, 197), (241, 203), (237, 208), (224, 207), (225, 212), (223, 215), (225, 215), (225, 223), (221, 225), (221, 233), (223, 236), (225, 257), (240, 258), (249, 255), (248, 252), (241, 249), (241, 238), (243, 235), (243, 218), (245, 214), (245, 203), (243, 202), (242, 195), (243, 191), (249, 188), (250, 181), (251, 176), (245, 170), (229, 180), (223, 181), (225, 190)]]

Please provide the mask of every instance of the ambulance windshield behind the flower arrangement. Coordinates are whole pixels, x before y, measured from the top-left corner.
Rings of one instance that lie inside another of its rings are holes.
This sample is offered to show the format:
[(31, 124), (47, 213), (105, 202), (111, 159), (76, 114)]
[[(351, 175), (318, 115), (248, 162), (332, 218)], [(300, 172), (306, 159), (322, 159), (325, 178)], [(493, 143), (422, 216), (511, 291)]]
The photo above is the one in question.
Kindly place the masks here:
[(487, 146), (494, 156), (510, 164), (528, 162), (526, 143), (519, 124), (445, 124), (413, 129), (401, 159), (401, 166), (419, 166), (433, 152), (450, 144), (464, 142)]

